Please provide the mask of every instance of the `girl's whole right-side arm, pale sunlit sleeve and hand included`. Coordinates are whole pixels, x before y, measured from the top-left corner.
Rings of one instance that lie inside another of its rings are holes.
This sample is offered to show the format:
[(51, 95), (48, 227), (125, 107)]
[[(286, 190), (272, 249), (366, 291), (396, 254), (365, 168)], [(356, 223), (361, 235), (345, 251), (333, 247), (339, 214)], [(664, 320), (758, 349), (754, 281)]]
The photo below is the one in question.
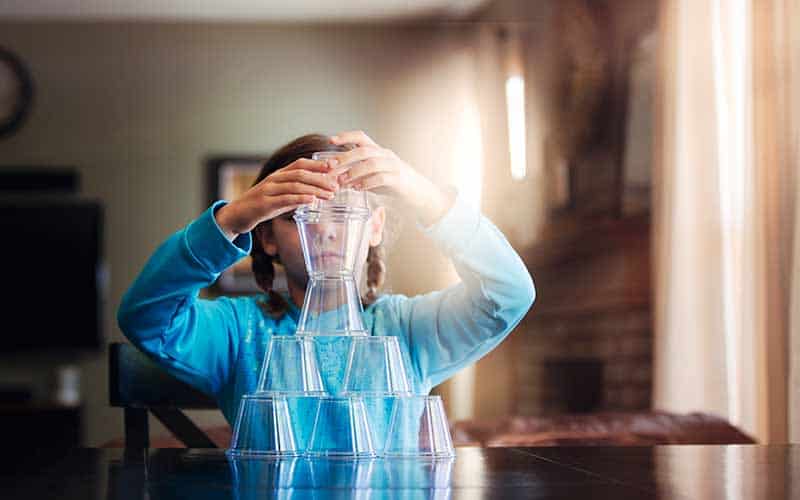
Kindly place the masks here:
[(412, 363), (427, 388), (491, 351), (533, 304), (533, 281), (502, 233), (461, 199), (439, 188), (364, 132), (331, 138), (357, 147), (339, 155), (339, 183), (396, 196), (432, 226), (426, 233), (455, 264), (461, 283), (411, 299), (394, 311)]

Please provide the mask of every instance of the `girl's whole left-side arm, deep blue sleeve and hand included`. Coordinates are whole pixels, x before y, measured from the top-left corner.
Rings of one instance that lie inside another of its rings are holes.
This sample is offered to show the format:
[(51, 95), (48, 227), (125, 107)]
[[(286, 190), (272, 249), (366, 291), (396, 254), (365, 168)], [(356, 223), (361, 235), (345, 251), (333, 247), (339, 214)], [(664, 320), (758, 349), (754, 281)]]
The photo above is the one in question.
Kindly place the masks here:
[(331, 198), (338, 188), (333, 167), (300, 158), (174, 234), (123, 297), (123, 333), (180, 379), (217, 394), (236, 362), (241, 321), (233, 300), (200, 300), (200, 289), (250, 253), (258, 224), (315, 197)]

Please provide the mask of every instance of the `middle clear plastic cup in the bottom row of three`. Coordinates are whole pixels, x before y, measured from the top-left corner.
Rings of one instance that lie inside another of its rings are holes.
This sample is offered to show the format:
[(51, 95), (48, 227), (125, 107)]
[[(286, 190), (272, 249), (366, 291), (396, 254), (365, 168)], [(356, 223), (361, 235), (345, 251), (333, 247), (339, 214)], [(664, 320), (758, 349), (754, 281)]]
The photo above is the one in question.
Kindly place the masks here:
[(364, 400), (321, 398), (307, 453), (312, 457), (374, 457)]

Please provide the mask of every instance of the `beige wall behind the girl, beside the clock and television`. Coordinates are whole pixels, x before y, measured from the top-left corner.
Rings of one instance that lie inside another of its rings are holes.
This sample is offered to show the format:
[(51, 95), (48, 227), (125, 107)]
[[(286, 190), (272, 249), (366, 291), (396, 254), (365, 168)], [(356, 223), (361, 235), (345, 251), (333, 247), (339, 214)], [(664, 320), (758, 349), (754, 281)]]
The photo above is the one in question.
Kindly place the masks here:
[[(0, 45), (23, 59), (36, 84), (27, 124), (0, 141), (0, 165), (74, 166), (84, 194), (105, 203), (106, 332), (119, 340), (115, 311), (128, 284), (158, 242), (205, 207), (207, 155), (261, 153), (311, 131), (363, 128), (453, 181), (457, 172), (440, 168), (437, 151), (457, 146), (450, 96), (470, 90), (449, 68), (472, 70), (461, 56), (440, 63), (462, 53), (465, 31), (0, 23)], [(446, 273), (408, 226), (390, 281), (395, 292), (418, 293)], [(98, 445), (121, 434), (121, 414), (107, 405), (105, 355), (81, 365), (86, 442)], [(36, 374), (48, 366), (17, 363), (0, 377), (41, 381)]]

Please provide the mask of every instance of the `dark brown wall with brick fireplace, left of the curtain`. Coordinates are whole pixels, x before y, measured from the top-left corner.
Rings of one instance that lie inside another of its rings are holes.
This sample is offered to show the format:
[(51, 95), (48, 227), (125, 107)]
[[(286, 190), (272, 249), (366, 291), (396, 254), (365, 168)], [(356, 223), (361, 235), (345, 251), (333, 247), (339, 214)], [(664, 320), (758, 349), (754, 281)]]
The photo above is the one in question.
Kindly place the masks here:
[(533, 5), (501, 1), (490, 13), (537, 26), (524, 39), (529, 175), (493, 179), (484, 208), (517, 244), (538, 294), (517, 332), (478, 365), (478, 380), (505, 376), (478, 387), (493, 403), (481, 416), (647, 409), (654, 36), (634, 49), (652, 30), (654, 4)]

